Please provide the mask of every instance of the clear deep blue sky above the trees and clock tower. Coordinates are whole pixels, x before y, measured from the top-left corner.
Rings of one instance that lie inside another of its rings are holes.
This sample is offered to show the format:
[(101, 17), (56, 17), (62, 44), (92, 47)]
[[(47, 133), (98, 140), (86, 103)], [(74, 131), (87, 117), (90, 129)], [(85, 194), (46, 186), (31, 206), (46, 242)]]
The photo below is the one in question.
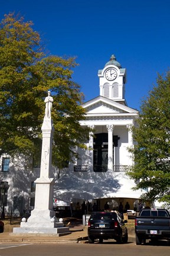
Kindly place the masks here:
[(110, 56), (126, 68), (126, 101), (139, 110), (169, 69), (169, 0), (0, 0), (0, 20), (18, 12), (33, 21), (51, 55), (76, 56), (73, 79), (85, 101), (99, 96), (97, 72)]

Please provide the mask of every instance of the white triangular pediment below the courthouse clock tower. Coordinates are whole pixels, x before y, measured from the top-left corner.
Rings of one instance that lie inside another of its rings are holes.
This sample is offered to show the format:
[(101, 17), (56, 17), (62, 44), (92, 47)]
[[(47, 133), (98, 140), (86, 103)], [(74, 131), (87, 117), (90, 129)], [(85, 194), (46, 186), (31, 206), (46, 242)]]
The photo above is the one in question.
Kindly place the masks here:
[(86, 108), (86, 114), (125, 114), (138, 113), (137, 110), (129, 108), (126, 105), (117, 103), (109, 98), (99, 96), (93, 100), (87, 101), (82, 105)]

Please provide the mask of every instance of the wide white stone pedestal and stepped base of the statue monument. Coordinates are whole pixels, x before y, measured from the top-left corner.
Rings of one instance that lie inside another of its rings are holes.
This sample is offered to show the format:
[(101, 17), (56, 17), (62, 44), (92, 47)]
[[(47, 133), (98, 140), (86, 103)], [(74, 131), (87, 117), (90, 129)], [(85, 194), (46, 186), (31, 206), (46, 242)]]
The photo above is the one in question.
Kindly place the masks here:
[[(36, 181), (35, 205), (37, 208), (31, 211), (31, 216), (23, 218), (20, 228), (14, 228), (13, 233), (31, 233), (31, 234), (52, 234), (52, 235), (67, 235), (70, 233), (68, 227), (64, 227), (63, 222), (58, 222), (55, 217), (55, 212), (48, 209), (51, 204), (51, 193), (53, 196), (53, 178), (41, 177)], [(53, 197), (52, 197), (53, 198)], [(46, 208), (46, 209), (45, 209)]]

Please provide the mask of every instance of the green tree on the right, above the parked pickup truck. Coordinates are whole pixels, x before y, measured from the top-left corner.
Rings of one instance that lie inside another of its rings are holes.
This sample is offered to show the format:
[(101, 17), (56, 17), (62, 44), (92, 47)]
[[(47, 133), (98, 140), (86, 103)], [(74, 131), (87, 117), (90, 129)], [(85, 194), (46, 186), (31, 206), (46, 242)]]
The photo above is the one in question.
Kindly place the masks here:
[(156, 82), (133, 129), (135, 165), (128, 174), (139, 181), (137, 189), (148, 190), (144, 199), (170, 201), (170, 73), (158, 74)]

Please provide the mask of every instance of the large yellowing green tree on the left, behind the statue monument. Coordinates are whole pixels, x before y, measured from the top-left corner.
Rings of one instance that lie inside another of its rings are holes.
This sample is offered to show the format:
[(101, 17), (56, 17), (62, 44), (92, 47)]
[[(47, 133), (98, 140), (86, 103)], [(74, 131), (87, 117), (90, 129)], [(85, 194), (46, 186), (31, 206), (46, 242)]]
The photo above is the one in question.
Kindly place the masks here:
[(83, 94), (73, 82), (74, 57), (45, 55), (40, 34), (31, 21), (5, 15), (0, 23), (0, 155), (36, 156), (41, 149), (44, 98), (53, 95), (53, 162), (69, 161), (74, 146), (83, 146), (89, 129), (84, 119)]

